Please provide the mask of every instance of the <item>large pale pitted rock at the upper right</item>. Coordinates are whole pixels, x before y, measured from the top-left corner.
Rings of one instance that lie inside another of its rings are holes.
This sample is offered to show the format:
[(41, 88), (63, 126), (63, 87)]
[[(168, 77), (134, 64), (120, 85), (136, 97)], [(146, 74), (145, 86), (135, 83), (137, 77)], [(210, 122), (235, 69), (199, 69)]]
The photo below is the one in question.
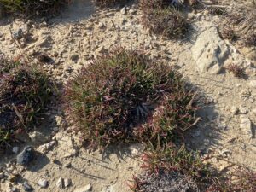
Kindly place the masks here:
[(201, 73), (219, 73), (230, 55), (229, 47), (218, 36), (215, 26), (202, 32), (191, 50), (196, 69)]

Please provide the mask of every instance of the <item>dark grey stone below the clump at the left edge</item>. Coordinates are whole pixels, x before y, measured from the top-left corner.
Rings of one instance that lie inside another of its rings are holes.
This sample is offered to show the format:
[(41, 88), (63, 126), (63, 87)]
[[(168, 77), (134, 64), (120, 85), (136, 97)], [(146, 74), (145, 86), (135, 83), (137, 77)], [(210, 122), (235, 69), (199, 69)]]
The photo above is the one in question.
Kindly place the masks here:
[(28, 166), (29, 163), (34, 159), (35, 151), (32, 147), (28, 146), (23, 149), (23, 151), (17, 155), (17, 164), (20, 166)]

